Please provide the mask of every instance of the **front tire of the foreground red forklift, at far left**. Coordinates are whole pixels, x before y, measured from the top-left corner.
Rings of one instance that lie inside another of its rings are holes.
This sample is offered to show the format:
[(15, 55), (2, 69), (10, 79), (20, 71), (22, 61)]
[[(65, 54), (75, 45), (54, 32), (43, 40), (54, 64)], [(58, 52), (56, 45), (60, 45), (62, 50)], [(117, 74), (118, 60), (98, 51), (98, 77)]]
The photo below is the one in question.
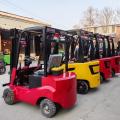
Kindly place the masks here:
[(13, 105), (15, 103), (15, 96), (13, 90), (7, 88), (3, 92), (3, 98), (6, 104)]

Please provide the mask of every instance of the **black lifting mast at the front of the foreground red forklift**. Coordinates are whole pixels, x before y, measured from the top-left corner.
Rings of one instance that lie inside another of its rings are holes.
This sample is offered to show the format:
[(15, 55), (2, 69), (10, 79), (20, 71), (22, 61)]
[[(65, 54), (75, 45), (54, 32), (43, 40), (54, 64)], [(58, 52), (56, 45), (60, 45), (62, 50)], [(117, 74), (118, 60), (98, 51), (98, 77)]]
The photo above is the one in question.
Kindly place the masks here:
[[(30, 33), (24, 34), (21, 30), (11, 29), (10, 36), (12, 38), (12, 49), (11, 49), (11, 63), (10, 71), (12, 68), (17, 68), (19, 61), (19, 53), (21, 46), (25, 46), (25, 56), (30, 57)], [(26, 64), (26, 63), (25, 63)]]

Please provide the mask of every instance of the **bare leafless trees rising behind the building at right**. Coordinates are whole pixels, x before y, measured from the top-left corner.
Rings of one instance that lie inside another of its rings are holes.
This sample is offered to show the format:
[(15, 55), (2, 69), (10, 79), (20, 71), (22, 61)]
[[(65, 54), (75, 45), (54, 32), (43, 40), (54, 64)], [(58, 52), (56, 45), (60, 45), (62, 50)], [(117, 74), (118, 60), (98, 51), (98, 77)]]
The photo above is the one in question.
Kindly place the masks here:
[[(116, 15), (116, 14), (117, 15)], [(74, 25), (74, 28), (83, 28), (83, 27), (91, 27), (91, 26), (105, 26), (103, 27), (103, 31), (107, 32), (107, 26), (116, 23), (116, 16), (120, 22), (120, 9), (113, 10), (110, 7), (105, 7), (102, 10), (97, 10), (93, 7), (88, 7), (83, 12), (83, 17), (80, 22)], [(118, 23), (118, 21), (117, 21)]]

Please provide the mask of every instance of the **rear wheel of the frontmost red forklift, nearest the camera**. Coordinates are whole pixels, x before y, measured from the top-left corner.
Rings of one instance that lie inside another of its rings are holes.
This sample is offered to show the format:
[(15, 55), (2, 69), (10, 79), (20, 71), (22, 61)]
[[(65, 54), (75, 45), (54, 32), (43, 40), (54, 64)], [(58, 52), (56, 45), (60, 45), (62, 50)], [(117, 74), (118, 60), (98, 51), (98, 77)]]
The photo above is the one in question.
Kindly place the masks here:
[(44, 99), (40, 103), (41, 113), (47, 118), (53, 117), (57, 112), (57, 107), (54, 102), (49, 99)]

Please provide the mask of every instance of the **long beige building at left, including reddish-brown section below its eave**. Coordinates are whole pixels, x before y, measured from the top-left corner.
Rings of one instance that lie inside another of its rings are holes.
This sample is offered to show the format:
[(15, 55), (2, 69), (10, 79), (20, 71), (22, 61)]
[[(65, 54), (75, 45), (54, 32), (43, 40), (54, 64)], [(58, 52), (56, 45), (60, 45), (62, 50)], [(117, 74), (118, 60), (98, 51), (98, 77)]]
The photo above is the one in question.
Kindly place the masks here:
[(23, 17), (12, 13), (0, 11), (0, 51), (11, 48), (11, 41), (9, 40), (9, 29), (17, 28), (24, 29), (32, 26), (51, 26), (41, 20)]

